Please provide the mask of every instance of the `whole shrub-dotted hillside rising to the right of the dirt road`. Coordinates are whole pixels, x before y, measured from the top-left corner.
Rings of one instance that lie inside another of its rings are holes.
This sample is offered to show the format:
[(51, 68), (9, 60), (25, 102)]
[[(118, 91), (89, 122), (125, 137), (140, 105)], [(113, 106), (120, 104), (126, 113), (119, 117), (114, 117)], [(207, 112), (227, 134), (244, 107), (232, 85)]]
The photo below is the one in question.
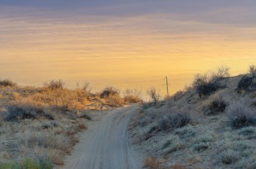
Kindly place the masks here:
[(141, 107), (129, 131), (148, 156), (145, 166), (256, 168), (256, 83), (253, 75), (247, 85), (246, 77), (218, 79), (218, 89), (205, 95), (189, 87)]

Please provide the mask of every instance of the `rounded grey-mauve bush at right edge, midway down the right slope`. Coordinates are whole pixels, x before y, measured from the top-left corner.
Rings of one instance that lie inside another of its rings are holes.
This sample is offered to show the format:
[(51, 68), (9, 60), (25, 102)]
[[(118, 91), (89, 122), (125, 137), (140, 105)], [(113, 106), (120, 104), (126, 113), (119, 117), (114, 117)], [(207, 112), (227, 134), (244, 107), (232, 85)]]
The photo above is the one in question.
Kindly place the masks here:
[(228, 107), (227, 114), (233, 128), (256, 125), (256, 111), (248, 99), (233, 102)]

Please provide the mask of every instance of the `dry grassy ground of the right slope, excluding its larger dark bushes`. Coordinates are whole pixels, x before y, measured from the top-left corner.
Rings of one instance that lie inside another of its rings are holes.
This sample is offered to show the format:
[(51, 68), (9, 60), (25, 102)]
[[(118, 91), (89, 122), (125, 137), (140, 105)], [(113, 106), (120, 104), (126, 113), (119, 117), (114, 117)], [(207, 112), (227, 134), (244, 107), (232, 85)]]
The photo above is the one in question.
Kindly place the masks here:
[[(241, 78), (242, 75), (222, 80), (222, 85), (226, 88), (209, 97), (199, 98), (196, 91), (191, 90), (154, 107), (142, 108), (141, 113), (131, 121), (129, 129), (137, 149), (149, 157), (160, 159), (158, 162), (156, 159), (147, 160), (147, 165), (153, 166), (152, 168), (256, 167), (256, 127), (232, 129), (226, 112), (205, 115), (207, 106), (216, 99), (222, 98), (230, 105), (232, 101), (245, 96), (235, 90)], [(250, 93), (249, 96), (254, 98), (255, 93)], [(161, 117), (158, 115), (170, 107), (190, 109), (193, 112), (192, 122), (179, 129), (150, 133), (152, 127), (159, 125)]]

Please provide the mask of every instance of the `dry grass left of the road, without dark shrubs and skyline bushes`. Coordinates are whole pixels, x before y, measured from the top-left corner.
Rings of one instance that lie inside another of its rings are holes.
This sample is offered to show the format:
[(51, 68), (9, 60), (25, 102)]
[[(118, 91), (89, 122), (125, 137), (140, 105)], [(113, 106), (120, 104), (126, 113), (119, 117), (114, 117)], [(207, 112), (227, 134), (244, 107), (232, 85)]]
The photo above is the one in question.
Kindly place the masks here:
[[(70, 154), (73, 146), (79, 142), (79, 132), (86, 129), (88, 119), (81, 115), (86, 113), (92, 116), (95, 111), (111, 109), (116, 104), (113, 99), (110, 104), (110, 101), (100, 97), (88, 99), (87, 96), (79, 95), (82, 91), (65, 89), (58, 91), (58, 95), (63, 96), (59, 98), (59, 106), (63, 106), (61, 99), (66, 102), (69, 99), (75, 101), (72, 104), (65, 103), (69, 107), (60, 111), (54, 105), (57, 91), (44, 90), (46, 89), (34, 87), (0, 87), (0, 164), (32, 158), (63, 165), (64, 156)], [(42, 107), (54, 120), (38, 115), (34, 119), (19, 117), (18, 120), (6, 121), (5, 117), (9, 114), (7, 107), (10, 105), (22, 107), (26, 111), (30, 107), (35, 110)]]

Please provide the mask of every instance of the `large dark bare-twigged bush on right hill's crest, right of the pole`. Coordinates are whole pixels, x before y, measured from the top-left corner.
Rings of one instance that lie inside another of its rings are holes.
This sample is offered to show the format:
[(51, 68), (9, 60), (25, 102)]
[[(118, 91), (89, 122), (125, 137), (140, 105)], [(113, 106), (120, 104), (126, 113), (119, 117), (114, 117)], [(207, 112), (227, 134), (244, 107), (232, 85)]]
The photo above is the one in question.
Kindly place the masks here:
[(208, 74), (197, 74), (193, 80), (192, 87), (197, 90), (199, 97), (211, 95), (221, 88), (220, 80), (229, 76), (229, 68), (221, 66), (216, 72)]

